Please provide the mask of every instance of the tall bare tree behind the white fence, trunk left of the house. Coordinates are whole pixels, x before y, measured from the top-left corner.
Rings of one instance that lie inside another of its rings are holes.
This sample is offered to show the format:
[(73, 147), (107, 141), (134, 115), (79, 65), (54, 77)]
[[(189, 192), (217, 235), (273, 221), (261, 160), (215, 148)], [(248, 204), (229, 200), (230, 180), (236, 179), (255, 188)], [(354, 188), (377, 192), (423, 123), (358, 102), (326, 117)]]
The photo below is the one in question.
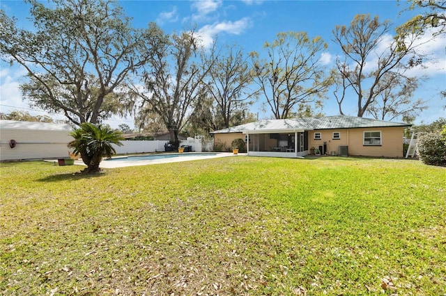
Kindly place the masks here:
[(203, 78), (213, 63), (201, 58), (203, 50), (194, 31), (164, 35), (163, 39), (144, 72), (145, 89), (133, 86), (132, 90), (143, 101), (141, 110), (149, 107), (160, 115), (171, 141), (178, 142), (178, 131), (186, 123), (192, 103), (205, 91)]

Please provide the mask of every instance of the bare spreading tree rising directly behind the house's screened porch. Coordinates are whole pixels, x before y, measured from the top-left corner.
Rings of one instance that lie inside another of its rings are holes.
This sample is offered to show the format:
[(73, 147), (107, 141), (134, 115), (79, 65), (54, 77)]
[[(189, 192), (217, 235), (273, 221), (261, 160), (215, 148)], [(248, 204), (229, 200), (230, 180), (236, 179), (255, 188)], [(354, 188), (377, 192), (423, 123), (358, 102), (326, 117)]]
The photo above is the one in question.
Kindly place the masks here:
[(305, 32), (278, 33), (272, 44), (263, 45), (268, 57), (250, 54), (252, 75), (276, 119), (288, 118), (300, 104), (318, 103), (332, 84), (319, 62), (327, 44)]

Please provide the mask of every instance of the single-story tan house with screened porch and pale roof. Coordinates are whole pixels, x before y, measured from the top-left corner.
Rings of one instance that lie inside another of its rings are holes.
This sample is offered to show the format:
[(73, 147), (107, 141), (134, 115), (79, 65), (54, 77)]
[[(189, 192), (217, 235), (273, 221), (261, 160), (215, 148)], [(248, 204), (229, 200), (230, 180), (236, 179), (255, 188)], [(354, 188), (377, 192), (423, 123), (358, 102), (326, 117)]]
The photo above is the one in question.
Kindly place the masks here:
[(403, 129), (410, 124), (346, 115), (261, 120), (211, 132), (214, 147), (247, 143), (249, 156), (307, 154), (403, 157)]

